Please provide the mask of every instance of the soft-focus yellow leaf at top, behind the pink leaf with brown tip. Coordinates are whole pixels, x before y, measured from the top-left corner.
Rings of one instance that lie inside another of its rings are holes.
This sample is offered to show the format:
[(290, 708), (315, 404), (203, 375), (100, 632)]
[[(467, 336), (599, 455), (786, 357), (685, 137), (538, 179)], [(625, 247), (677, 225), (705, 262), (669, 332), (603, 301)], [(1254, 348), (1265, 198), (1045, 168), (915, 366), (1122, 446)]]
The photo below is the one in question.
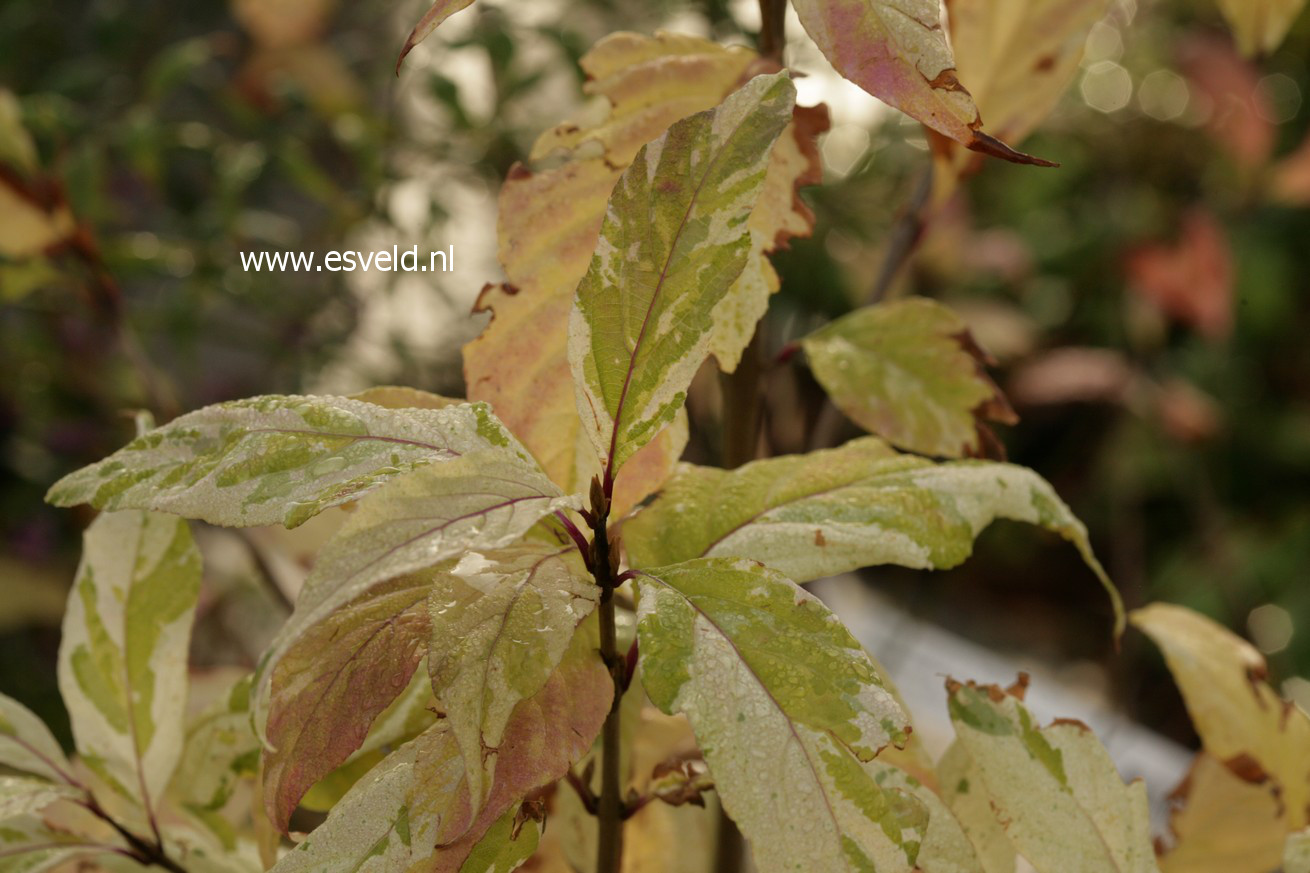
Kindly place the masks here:
[[(1110, 0), (946, 0), (956, 69), (988, 130), (1022, 143), (1055, 109)], [(948, 140), (937, 163), (947, 187), (971, 156)]]

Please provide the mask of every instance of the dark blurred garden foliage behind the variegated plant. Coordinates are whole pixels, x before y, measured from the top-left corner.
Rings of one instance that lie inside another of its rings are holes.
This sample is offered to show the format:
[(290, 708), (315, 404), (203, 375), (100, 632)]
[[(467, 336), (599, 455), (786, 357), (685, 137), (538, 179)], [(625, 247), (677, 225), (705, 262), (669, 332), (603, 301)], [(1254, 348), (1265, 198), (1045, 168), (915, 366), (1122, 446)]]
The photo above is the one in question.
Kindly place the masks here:
[[(58, 621), (86, 518), (42, 503), (51, 481), (128, 439), (135, 409), (169, 418), (375, 383), (460, 393), (458, 349), (479, 329), (466, 315), (498, 275), (495, 191), (580, 105), (578, 58), (618, 29), (749, 45), (758, 24), (749, 0), (485, 0), (397, 77), (419, 7), (0, 4), (0, 687), (55, 724)], [(1061, 169), (988, 163), (956, 198), (930, 199), (887, 292), (965, 316), (1022, 416), (1002, 433), (1010, 459), (1087, 522), (1129, 604), (1227, 623), (1303, 704), (1307, 18), (1251, 62), (1210, 4), (1117, 0), (1026, 144)], [(833, 130), (825, 185), (806, 194), (816, 232), (777, 258), (766, 360), (869, 299), (931, 168), (921, 128), (836, 80), (794, 18), (789, 39), (802, 96), (829, 104)], [(257, 273), (238, 257), (393, 244), (455, 245), (456, 270)], [(709, 434), (706, 384), (692, 413)], [(803, 360), (769, 364), (765, 384), (770, 448), (804, 450), (821, 413)], [(706, 439), (690, 452), (715, 454)], [(202, 663), (253, 663), (286, 608), (249, 554), (214, 586)], [(1136, 717), (1187, 739), (1155, 655), (1129, 637), (1114, 657), (1077, 561), (1002, 524), (958, 570), (871, 578), (998, 649), (1103, 665)]]

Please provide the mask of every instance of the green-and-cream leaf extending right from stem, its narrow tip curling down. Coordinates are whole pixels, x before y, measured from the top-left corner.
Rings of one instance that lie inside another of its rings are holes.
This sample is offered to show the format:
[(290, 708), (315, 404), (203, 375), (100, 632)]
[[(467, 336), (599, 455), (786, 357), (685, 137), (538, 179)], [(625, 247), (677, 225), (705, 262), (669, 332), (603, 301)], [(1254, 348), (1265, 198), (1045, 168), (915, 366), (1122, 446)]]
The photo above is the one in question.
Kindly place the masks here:
[(1013, 464), (935, 463), (869, 436), (734, 471), (683, 464), (624, 524), (624, 543), (635, 568), (745, 557), (808, 582), (878, 564), (956, 566), (998, 518), (1073, 543), (1121, 616), (1086, 528), (1040, 476)]

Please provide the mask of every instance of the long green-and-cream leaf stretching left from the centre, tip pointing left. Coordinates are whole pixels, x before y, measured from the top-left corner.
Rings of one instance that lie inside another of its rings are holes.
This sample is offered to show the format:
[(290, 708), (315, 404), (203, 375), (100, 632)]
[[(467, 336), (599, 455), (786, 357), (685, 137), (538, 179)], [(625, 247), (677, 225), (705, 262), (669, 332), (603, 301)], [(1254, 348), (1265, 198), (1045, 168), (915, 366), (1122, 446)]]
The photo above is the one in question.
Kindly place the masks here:
[(489, 446), (521, 452), (483, 404), (393, 410), (347, 397), (252, 397), (176, 418), (59, 480), (46, 499), (295, 527), (415, 467)]

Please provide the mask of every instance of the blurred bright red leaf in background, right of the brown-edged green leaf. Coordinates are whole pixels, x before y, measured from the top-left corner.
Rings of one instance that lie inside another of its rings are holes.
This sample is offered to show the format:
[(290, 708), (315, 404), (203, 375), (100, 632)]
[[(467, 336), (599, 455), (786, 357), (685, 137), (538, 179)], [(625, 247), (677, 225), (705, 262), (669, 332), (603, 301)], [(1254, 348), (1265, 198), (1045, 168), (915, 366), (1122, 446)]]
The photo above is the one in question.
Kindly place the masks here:
[(1134, 291), (1203, 336), (1222, 340), (1233, 332), (1233, 253), (1208, 211), (1183, 219), (1178, 242), (1133, 252), (1128, 279)]

